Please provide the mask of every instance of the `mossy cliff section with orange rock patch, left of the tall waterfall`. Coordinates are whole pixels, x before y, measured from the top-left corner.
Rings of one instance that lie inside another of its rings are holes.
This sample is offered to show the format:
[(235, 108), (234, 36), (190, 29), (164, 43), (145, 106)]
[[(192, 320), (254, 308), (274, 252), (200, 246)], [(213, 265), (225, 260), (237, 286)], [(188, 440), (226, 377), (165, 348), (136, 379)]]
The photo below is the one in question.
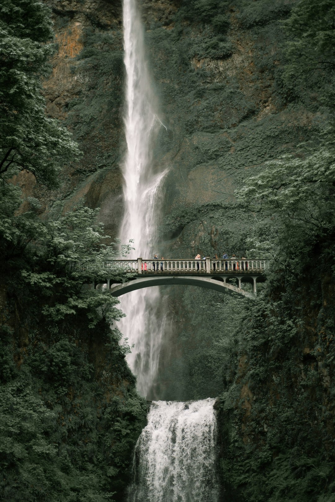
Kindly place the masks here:
[[(41, 212), (48, 212), (56, 200), (63, 201), (64, 211), (81, 199), (99, 207), (107, 230), (115, 235), (122, 211), (119, 161), (124, 149), (122, 6), (120, 2), (47, 4), (56, 35), (52, 74), (44, 82), (47, 113), (64, 120), (83, 157), (63, 170), (57, 192), (35, 186), (33, 193), (43, 203)], [(31, 193), (23, 174), (18, 182)]]

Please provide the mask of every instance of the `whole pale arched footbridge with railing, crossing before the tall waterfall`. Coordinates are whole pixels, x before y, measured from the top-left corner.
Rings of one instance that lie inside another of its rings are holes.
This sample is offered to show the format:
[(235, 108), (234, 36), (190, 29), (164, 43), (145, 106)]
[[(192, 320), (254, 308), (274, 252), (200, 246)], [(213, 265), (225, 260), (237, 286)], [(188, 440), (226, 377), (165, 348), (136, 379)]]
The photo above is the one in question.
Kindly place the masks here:
[[(267, 262), (265, 260), (109, 260), (105, 262), (107, 289), (113, 296), (130, 291), (171, 284), (200, 286), (222, 293), (235, 293), (240, 297), (254, 298), (256, 284), (265, 281)], [(111, 279), (115, 270), (122, 269), (131, 274), (124, 283)], [(113, 273), (112, 273), (113, 271)], [(233, 279), (233, 283), (231, 282)], [(253, 294), (243, 290), (242, 284), (250, 283)], [(97, 284), (93, 284), (97, 287)]]

